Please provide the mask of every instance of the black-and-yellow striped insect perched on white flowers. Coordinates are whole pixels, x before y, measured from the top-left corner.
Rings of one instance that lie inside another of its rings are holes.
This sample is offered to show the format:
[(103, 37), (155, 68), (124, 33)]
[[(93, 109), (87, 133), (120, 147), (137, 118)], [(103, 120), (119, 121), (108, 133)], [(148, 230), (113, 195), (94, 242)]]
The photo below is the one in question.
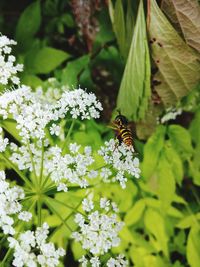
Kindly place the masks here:
[(116, 137), (119, 140), (119, 144), (122, 142), (129, 147), (133, 147), (133, 134), (129, 126), (128, 119), (119, 112), (112, 122), (110, 128), (116, 132)]

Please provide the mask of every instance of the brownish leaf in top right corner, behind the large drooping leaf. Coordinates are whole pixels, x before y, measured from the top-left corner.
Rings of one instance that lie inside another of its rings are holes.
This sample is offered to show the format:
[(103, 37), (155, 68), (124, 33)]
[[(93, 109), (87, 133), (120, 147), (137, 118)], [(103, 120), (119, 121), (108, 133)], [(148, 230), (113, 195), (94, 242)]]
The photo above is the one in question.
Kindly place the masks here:
[(172, 1), (186, 42), (200, 52), (200, 7), (197, 0)]

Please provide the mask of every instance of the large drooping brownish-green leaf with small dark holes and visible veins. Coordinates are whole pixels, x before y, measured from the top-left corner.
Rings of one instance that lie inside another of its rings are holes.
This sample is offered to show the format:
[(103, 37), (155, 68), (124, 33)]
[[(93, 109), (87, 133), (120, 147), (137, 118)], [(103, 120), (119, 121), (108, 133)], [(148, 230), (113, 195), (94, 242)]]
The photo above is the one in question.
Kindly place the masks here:
[(154, 80), (156, 91), (165, 105), (175, 103), (187, 95), (200, 78), (200, 64), (196, 54), (181, 39), (159, 9), (150, 1), (149, 36), (152, 57), (159, 69)]

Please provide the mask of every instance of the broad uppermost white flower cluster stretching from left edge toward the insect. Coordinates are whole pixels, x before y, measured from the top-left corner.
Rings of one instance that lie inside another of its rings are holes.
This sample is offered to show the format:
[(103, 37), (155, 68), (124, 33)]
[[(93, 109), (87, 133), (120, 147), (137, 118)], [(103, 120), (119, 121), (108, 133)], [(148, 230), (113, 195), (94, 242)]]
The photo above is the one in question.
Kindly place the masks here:
[[(96, 96), (82, 89), (64, 91), (59, 100), (53, 103), (45, 100), (41, 90), (31, 91), (22, 85), (17, 90), (0, 96), (0, 116), (13, 118), (24, 143), (28, 139), (45, 138), (45, 128), (51, 121), (65, 118), (69, 112), (73, 118), (90, 119), (99, 117), (101, 104)], [(59, 134), (59, 127), (53, 124), (52, 135)]]

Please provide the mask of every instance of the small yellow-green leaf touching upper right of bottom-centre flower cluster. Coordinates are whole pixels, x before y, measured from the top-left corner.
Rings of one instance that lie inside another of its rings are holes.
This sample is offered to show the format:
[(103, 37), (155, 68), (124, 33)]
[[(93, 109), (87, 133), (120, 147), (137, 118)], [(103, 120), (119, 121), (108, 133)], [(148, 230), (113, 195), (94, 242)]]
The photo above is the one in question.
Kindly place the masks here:
[(145, 202), (143, 199), (138, 200), (135, 205), (126, 213), (124, 222), (127, 226), (137, 223), (145, 209)]

